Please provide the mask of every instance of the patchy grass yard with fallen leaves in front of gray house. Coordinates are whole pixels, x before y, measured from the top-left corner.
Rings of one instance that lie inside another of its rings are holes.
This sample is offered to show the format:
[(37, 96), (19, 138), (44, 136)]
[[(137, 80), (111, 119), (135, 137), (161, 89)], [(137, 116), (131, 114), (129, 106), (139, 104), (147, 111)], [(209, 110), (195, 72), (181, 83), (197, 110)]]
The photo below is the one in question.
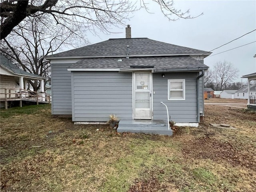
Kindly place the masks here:
[(256, 114), (205, 108), (199, 128), (172, 137), (74, 125), (48, 104), (1, 110), (1, 191), (255, 191)]

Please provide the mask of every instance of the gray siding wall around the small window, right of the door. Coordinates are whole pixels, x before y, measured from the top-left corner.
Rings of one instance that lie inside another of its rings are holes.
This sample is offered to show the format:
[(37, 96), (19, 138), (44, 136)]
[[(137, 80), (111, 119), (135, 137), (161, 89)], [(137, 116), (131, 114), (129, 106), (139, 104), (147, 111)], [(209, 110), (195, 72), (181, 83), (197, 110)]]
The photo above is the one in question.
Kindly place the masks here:
[[(167, 118), (166, 107), (171, 120), (177, 123), (192, 123), (197, 121), (197, 81), (198, 72), (153, 73), (153, 118)], [(185, 79), (185, 100), (168, 100), (168, 79)]]

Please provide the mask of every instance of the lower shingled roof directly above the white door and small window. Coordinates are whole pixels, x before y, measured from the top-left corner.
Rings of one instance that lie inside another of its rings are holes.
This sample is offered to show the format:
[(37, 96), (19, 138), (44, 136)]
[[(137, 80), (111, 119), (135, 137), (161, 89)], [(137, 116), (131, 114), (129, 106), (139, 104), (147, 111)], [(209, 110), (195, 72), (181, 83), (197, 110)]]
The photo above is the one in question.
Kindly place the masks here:
[[(119, 60), (119, 61), (118, 61)], [(203, 70), (208, 66), (190, 56), (154, 56), (126, 58), (84, 58), (68, 68), (74, 69), (119, 69), (130, 70), (132, 67), (151, 66), (154, 70)]]

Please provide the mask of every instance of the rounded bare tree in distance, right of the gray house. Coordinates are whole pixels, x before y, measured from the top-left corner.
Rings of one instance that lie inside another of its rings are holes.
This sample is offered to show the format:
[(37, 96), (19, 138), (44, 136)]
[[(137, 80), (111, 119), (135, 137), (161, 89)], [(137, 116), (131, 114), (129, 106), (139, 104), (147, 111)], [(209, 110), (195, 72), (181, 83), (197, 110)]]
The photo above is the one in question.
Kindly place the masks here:
[(216, 89), (222, 90), (225, 85), (232, 83), (238, 77), (238, 72), (239, 70), (230, 62), (217, 62), (213, 71)]

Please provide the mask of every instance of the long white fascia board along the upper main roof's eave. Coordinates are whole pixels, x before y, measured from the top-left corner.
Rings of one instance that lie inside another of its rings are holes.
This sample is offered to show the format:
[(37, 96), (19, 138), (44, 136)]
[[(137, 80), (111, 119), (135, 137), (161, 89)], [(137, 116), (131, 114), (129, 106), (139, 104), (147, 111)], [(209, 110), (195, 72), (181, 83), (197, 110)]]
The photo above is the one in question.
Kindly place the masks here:
[[(191, 56), (191, 55), (194, 55), (194, 56), (209, 56), (211, 53), (181, 53), (181, 54), (141, 54), (141, 55), (132, 55), (130, 54), (129, 57), (150, 57), (150, 56)], [(72, 58), (104, 58), (104, 57), (126, 57), (126, 55), (105, 55), (105, 56), (99, 56), (99, 55), (96, 55), (96, 56), (62, 56), (62, 57), (51, 57), (51, 56), (48, 56), (48, 57), (45, 57), (45, 59), (47, 60), (51, 60), (51, 59), (72, 59)]]

